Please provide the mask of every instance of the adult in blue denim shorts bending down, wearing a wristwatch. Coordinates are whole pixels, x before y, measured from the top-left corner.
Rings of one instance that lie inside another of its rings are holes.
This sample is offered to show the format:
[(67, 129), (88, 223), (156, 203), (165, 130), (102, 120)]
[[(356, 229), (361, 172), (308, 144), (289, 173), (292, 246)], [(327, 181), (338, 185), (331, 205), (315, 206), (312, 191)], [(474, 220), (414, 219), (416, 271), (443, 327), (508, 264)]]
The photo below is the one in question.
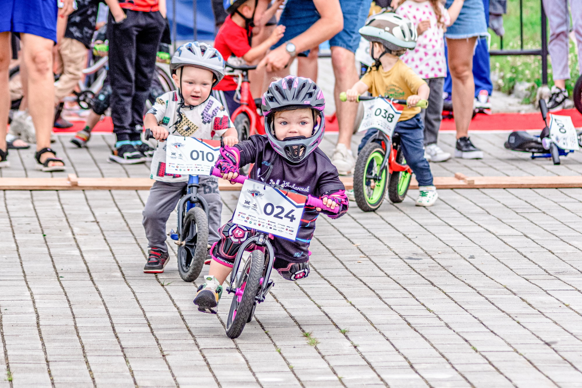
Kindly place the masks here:
[(335, 107), (339, 124), (338, 144), (332, 163), (340, 175), (353, 172), (355, 160), (350, 149), (357, 104), (342, 103), (339, 93), (359, 79), (354, 53), (360, 43), (358, 30), (364, 26), (371, 0), (288, 0), (279, 19), (285, 34), (259, 66), (284, 77), (296, 55), (308, 55), (311, 47), (329, 40), (335, 76)]

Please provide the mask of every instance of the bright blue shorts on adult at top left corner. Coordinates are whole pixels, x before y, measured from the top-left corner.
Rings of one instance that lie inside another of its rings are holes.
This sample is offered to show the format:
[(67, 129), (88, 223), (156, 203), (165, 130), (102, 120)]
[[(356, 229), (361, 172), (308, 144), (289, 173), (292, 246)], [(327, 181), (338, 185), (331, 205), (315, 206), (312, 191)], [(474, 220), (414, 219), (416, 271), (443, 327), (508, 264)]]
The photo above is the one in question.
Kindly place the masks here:
[(2, 0), (0, 32), (11, 31), (56, 43), (56, 0)]

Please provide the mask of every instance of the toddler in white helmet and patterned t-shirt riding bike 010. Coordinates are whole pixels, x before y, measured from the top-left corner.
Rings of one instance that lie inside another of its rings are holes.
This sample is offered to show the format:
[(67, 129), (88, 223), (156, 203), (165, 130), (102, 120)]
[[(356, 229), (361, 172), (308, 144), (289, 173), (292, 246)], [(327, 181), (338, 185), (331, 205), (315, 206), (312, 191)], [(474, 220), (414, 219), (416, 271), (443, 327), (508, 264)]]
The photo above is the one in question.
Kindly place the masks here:
[[(236, 129), (225, 108), (210, 96), (212, 87), (224, 76), (222, 55), (205, 43), (186, 43), (174, 53), (170, 68), (177, 91), (159, 96), (145, 114), (144, 127), (158, 140), (151, 163), (150, 178), (155, 179), (143, 211), (145, 236), (150, 247), (144, 273), (162, 273), (168, 263), (166, 221), (187, 185), (188, 175), (166, 173), (166, 137), (170, 134), (219, 139), (233, 146), (239, 142)], [(208, 203), (208, 241), (218, 241), (222, 202), (218, 179), (200, 176), (200, 190)]]

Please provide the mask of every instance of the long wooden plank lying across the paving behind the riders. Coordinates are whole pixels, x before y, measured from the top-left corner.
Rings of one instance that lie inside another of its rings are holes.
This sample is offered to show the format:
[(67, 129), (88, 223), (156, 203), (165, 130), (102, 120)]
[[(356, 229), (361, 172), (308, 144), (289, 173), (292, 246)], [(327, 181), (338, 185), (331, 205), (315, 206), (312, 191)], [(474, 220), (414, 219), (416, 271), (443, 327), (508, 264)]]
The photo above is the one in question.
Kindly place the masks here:
[[(460, 174), (462, 175), (462, 174)], [(541, 189), (582, 188), (582, 175), (574, 177), (435, 177), (438, 189)], [(462, 179), (459, 179), (462, 178)], [(353, 188), (352, 177), (340, 177), (346, 189)], [(0, 178), (0, 190), (149, 190), (149, 178)], [(239, 191), (242, 185), (231, 185), (219, 179), (222, 191)], [(416, 179), (410, 182), (417, 189)]]

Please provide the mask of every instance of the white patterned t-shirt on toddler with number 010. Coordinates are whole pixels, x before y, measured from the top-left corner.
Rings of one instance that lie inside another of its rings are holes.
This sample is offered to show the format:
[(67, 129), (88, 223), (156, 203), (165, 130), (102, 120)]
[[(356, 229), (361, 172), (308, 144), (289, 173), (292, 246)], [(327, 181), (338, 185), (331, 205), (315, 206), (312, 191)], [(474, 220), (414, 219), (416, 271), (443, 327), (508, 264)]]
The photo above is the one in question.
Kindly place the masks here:
[[(155, 104), (148, 113), (155, 116), (159, 126), (168, 130), (170, 135), (198, 137), (198, 139), (220, 139), (234, 125), (228, 112), (212, 96), (204, 103), (190, 108), (180, 108), (177, 91), (168, 91), (155, 99)], [(150, 179), (161, 182), (187, 182), (188, 175), (166, 174), (166, 144), (158, 142), (154, 150), (150, 167)]]

